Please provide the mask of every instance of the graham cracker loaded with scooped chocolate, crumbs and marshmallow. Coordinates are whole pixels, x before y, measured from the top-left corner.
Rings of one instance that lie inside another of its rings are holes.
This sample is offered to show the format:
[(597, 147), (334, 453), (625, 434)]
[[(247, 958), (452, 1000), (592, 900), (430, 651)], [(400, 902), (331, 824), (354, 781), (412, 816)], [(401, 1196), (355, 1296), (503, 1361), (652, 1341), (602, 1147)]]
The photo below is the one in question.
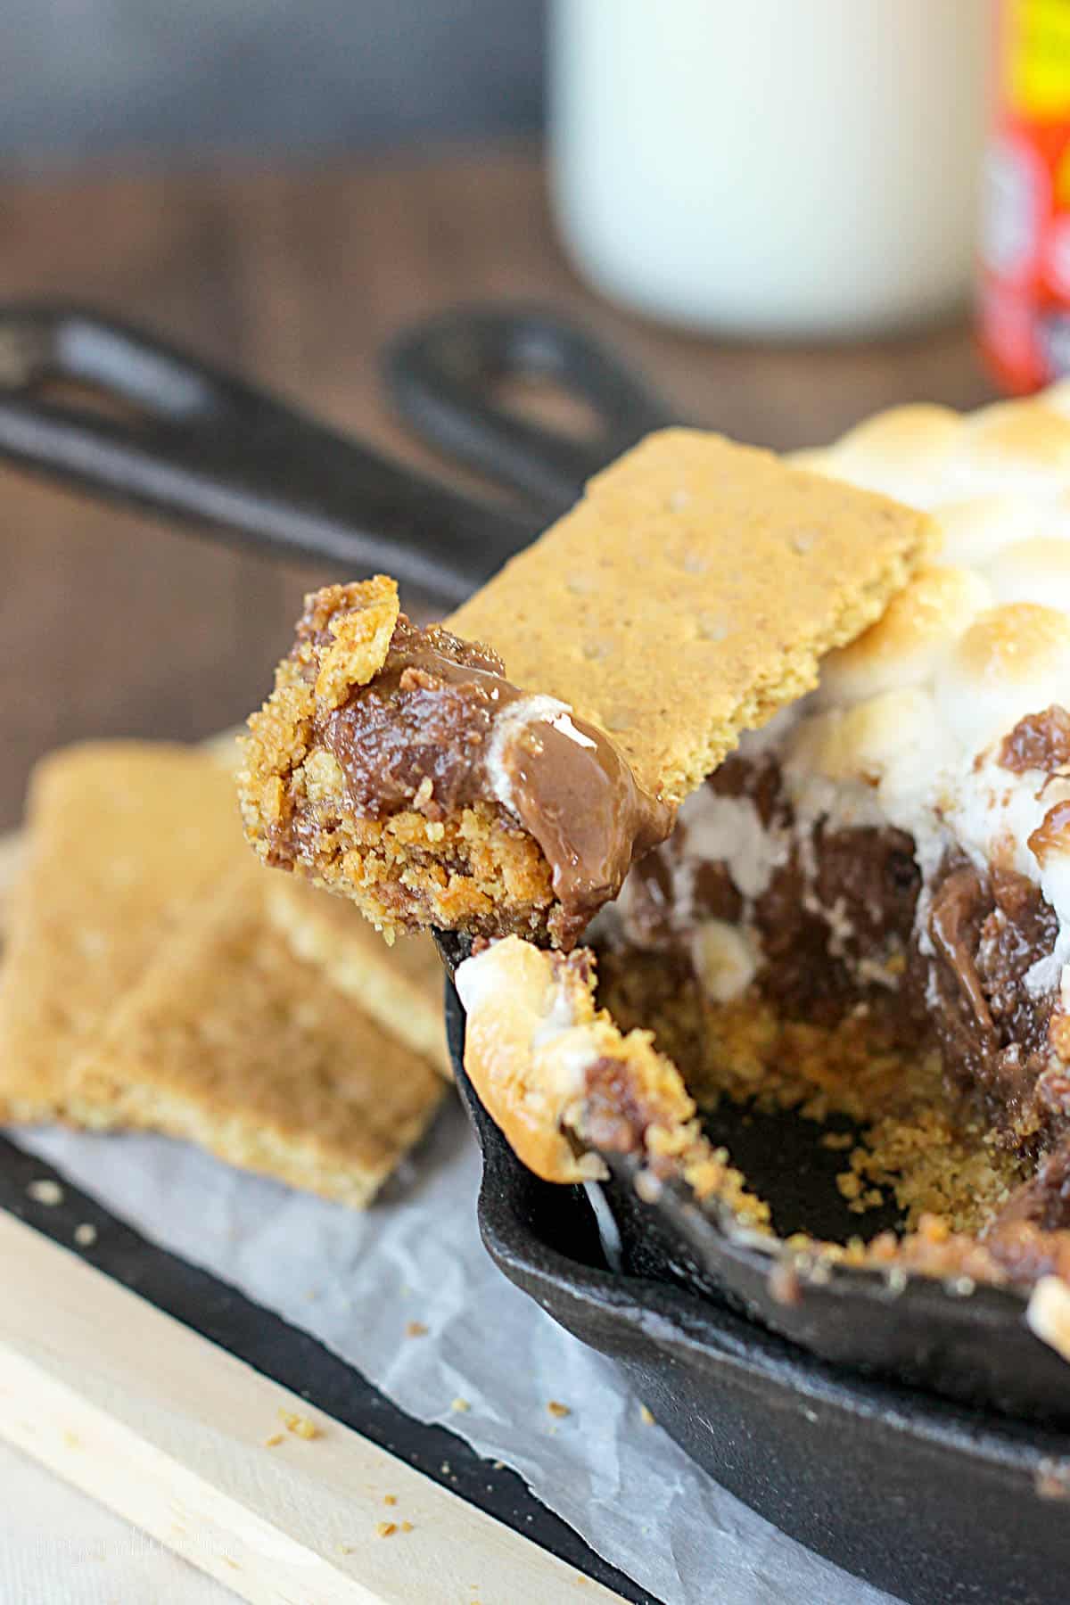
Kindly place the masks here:
[(311, 595), (250, 719), (249, 836), (388, 934), (571, 947), (927, 539), (884, 496), (651, 435), (441, 626), (411, 624), (385, 578)]

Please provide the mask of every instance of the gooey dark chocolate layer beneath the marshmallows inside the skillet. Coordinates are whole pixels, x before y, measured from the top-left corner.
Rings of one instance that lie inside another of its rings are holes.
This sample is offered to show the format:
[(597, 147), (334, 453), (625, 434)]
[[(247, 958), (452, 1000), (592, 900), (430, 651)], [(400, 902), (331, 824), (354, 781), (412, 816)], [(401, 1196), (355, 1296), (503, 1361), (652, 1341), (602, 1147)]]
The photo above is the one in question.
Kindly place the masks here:
[[(1015, 732), (1007, 756), (1033, 758), (1041, 742), (1048, 754), (1060, 748), (1051, 719)], [(748, 815), (749, 836), (733, 827)], [(1025, 979), (1057, 934), (1040, 889), (953, 852), (922, 888), (905, 831), (818, 822), (804, 836), (794, 823), (775, 758), (730, 758), (706, 799), (687, 806), (672, 838), (632, 872), (606, 926), (616, 949), (608, 973), (632, 968), (655, 990), (664, 973), (671, 985), (704, 984), (711, 995), (703, 931), (743, 933), (754, 966), (738, 984), (784, 1018), (831, 1027), (865, 1003), (890, 1040), (938, 1046), (956, 1096), (980, 1103), (1023, 1157), (1052, 1156), (1030, 1183), (1030, 1218), (1070, 1226), (1070, 1157), (1054, 1160), (1070, 1144), (1070, 1075), (1049, 1042), (1057, 995)], [(732, 862), (703, 857), (725, 839)], [(622, 1024), (640, 1016), (642, 1002)], [(1015, 1199), (1009, 1218), (1023, 1207)]]

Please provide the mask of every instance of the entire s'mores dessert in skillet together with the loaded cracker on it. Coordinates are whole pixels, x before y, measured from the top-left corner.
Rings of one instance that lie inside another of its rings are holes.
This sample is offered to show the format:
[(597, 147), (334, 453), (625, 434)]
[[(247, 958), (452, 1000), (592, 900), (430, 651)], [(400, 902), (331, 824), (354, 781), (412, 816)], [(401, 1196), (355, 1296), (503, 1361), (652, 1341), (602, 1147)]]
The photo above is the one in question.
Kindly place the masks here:
[(1068, 392), (651, 437), (430, 631), (319, 592), (239, 788), (268, 863), (476, 939), (465, 1066), (549, 1180), (768, 1229), (698, 1111), (791, 1106), (908, 1228), (829, 1252), (1070, 1271)]

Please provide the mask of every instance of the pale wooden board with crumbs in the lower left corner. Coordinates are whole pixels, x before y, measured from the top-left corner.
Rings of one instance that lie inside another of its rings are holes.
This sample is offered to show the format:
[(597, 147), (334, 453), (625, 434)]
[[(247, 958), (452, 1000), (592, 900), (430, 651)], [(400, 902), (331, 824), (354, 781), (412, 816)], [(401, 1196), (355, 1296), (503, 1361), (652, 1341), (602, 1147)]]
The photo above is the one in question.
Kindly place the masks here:
[(0, 1265), (0, 1436), (241, 1599), (621, 1600), (3, 1210)]

